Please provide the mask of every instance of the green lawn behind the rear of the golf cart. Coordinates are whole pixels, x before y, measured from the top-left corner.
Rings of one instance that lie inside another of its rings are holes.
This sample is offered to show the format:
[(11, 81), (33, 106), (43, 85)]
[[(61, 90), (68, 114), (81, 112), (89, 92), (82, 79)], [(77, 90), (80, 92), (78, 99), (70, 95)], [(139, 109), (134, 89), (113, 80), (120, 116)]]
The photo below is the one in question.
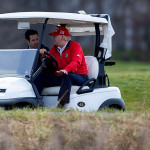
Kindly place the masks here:
[(106, 67), (110, 86), (119, 87), (128, 111), (150, 110), (150, 64), (116, 62)]

